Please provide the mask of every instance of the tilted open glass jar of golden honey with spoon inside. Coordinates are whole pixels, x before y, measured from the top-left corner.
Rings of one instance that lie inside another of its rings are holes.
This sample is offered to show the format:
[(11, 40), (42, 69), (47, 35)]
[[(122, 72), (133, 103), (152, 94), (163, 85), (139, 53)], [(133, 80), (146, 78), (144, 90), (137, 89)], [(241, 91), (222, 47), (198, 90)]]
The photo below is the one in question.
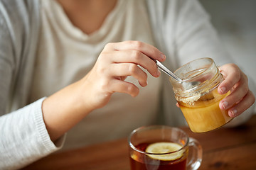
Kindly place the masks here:
[(174, 74), (182, 79), (170, 79), (175, 98), (193, 132), (208, 132), (232, 120), (228, 111), (220, 110), (220, 101), (230, 93), (218, 94), (223, 76), (211, 58), (188, 62)]

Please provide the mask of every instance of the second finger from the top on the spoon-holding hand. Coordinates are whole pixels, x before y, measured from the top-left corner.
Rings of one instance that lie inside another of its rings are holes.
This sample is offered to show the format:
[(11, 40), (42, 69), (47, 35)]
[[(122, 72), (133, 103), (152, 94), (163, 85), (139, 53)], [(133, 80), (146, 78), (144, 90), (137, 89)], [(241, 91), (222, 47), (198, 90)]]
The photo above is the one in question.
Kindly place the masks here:
[(146, 55), (142, 52), (136, 50), (129, 50), (129, 51), (118, 51), (118, 52), (110, 52), (106, 55), (111, 55), (112, 62), (114, 63), (134, 63), (139, 64), (144, 69), (146, 69), (152, 76), (159, 77), (160, 71), (156, 66), (156, 63), (149, 59)]

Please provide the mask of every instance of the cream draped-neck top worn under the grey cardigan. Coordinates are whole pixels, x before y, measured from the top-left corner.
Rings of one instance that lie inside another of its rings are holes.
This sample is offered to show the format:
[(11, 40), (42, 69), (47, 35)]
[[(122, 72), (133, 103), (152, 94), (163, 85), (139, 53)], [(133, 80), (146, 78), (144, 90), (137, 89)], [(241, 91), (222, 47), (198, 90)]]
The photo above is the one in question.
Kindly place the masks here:
[[(82, 79), (108, 42), (140, 40), (154, 45), (145, 1), (118, 1), (92, 35), (75, 28), (57, 1), (41, 0), (41, 22), (31, 101)], [(68, 132), (64, 148), (127, 137), (134, 128), (156, 123), (161, 79), (148, 74), (145, 88), (133, 77), (126, 81), (137, 84), (139, 95), (113, 94), (107, 106), (92, 111)]]

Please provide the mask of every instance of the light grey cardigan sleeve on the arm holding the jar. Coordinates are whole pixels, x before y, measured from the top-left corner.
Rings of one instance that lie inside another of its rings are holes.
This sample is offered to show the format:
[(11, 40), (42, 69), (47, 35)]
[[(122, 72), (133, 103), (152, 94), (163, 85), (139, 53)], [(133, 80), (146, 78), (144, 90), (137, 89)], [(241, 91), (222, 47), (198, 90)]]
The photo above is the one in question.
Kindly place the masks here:
[[(186, 1), (186, 3), (179, 1), (179, 3), (175, 37), (179, 63), (186, 64), (201, 57), (213, 58), (218, 66), (233, 62), (203, 6), (197, 0)], [(254, 88), (252, 81), (250, 81), (250, 88)], [(252, 113), (253, 106), (234, 118), (227, 126), (233, 127), (245, 123)]]

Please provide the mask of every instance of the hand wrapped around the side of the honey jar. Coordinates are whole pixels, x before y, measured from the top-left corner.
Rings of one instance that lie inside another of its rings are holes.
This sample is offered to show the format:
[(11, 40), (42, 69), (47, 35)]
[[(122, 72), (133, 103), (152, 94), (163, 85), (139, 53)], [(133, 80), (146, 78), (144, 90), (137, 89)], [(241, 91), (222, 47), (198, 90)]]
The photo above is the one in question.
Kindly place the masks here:
[(220, 109), (228, 110), (230, 117), (238, 116), (255, 102), (247, 76), (235, 64), (225, 64), (219, 69), (225, 80), (218, 86), (218, 93), (231, 92), (220, 101)]

